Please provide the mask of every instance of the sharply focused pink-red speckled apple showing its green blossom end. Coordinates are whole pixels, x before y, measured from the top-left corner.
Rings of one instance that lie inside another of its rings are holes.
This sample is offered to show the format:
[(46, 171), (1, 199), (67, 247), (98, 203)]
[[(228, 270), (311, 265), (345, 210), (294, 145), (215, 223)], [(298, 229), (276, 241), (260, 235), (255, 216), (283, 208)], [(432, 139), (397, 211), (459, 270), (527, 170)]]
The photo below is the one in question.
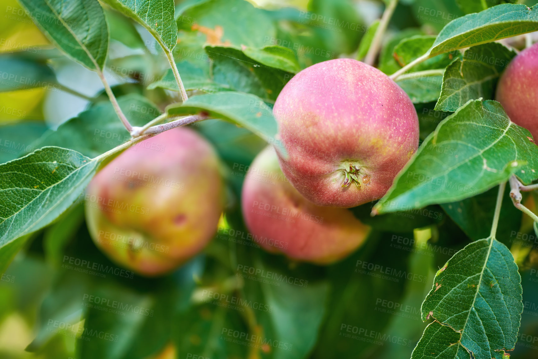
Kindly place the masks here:
[(317, 205), (350, 208), (385, 195), (419, 144), (409, 96), (353, 59), (307, 67), (282, 89), (273, 113), (284, 174)]

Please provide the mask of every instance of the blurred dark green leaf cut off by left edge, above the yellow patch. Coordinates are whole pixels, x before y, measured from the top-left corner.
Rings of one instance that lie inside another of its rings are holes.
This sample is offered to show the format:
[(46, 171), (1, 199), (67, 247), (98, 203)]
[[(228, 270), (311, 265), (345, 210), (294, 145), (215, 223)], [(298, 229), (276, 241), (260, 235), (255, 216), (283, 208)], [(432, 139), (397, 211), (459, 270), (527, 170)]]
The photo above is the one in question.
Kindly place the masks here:
[(56, 85), (56, 75), (46, 64), (20, 56), (1, 56), (0, 92)]

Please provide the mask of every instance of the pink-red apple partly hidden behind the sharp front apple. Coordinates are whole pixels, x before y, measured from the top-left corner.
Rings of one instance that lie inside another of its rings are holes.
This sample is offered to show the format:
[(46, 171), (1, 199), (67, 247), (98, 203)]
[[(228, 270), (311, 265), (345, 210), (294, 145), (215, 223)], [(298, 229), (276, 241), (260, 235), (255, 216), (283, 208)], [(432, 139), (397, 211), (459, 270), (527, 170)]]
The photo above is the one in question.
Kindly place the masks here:
[(250, 165), (242, 209), (255, 243), (270, 253), (318, 265), (348, 256), (371, 229), (347, 209), (317, 206), (301, 196), (280, 170), (271, 147)]

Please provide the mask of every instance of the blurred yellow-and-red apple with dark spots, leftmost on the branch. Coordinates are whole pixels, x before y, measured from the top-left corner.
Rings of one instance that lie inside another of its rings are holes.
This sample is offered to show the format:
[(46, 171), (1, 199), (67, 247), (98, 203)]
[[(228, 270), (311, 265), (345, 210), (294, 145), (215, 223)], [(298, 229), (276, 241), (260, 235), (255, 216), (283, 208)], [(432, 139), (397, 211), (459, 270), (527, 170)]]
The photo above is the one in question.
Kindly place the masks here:
[(91, 238), (112, 261), (147, 277), (172, 271), (213, 238), (223, 209), (219, 160), (194, 130), (150, 137), (90, 182)]

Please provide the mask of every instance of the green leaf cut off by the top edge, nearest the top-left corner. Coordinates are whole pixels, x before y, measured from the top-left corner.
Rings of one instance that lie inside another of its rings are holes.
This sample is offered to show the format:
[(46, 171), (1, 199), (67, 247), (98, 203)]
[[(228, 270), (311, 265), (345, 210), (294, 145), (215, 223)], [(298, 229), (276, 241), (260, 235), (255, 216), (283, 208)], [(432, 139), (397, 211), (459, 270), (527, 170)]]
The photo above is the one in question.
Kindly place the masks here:
[(45, 35), (90, 70), (103, 70), (108, 27), (97, 0), (20, 0)]

